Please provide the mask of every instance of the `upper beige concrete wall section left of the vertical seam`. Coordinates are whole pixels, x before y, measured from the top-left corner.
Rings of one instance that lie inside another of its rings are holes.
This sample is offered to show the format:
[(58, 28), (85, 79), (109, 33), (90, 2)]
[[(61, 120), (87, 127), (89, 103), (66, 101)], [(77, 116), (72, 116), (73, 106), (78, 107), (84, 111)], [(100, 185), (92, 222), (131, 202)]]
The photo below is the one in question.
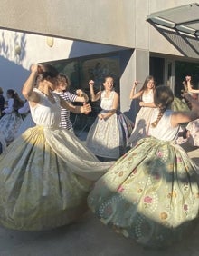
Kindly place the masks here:
[(135, 44), (135, 34), (129, 33), (135, 24), (134, 9), (134, 1), (127, 0), (2, 0), (0, 26), (131, 47)]

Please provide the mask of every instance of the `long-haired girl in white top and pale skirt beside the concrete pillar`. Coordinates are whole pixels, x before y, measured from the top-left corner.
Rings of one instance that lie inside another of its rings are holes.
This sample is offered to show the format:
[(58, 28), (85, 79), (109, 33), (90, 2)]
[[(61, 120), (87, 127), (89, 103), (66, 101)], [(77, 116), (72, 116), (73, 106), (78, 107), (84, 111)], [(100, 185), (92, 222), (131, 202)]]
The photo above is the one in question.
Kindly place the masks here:
[(142, 88), (136, 92), (138, 82), (135, 81), (130, 91), (130, 100), (139, 99), (141, 107), (137, 113), (134, 129), (128, 139), (128, 144), (133, 147), (138, 140), (145, 138), (148, 135), (151, 114), (154, 108), (154, 90), (156, 82), (152, 75), (148, 75)]

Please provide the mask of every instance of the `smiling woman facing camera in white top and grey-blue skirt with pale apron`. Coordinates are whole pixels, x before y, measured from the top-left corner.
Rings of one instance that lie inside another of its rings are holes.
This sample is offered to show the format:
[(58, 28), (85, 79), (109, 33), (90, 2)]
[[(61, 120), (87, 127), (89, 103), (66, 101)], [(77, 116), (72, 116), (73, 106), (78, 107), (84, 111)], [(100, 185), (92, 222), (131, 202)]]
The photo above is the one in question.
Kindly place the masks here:
[(118, 159), (126, 153), (127, 140), (133, 123), (118, 110), (119, 94), (114, 89), (113, 77), (104, 77), (104, 89), (95, 93), (94, 81), (90, 80), (91, 101), (100, 100), (101, 111), (91, 125), (86, 145), (100, 160)]

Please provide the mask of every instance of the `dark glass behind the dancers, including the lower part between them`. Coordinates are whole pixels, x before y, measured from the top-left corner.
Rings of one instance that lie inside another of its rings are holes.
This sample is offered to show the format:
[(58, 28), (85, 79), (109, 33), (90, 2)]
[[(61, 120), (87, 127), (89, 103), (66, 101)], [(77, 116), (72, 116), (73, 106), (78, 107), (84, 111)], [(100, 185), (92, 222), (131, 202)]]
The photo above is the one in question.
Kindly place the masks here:
[[(119, 93), (119, 57), (118, 55), (106, 55), (103, 57), (81, 57), (75, 60), (58, 60), (50, 62), (62, 74), (71, 80), (69, 91), (75, 94), (77, 89), (82, 89), (90, 97), (90, 79), (94, 80), (94, 90), (97, 93), (103, 90), (103, 80), (106, 76), (112, 76), (115, 81), (115, 90)], [(71, 113), (71, 122), (75, 130), (88, 131), (100, 112), (100, 101), (89, 102), (92, 112), (88, 115)], [(81, 105), (82, 103), (72, 103)]]

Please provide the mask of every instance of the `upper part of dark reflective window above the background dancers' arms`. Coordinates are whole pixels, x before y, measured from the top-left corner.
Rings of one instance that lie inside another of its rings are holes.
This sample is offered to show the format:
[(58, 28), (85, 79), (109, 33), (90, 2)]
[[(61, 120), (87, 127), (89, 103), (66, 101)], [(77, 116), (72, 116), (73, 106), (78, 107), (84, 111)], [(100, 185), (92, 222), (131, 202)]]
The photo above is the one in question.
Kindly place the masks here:
[(60, 73), (66, 74), (71, 80), (70, 91), (81, 88), (89, 91), (90, 79), (95, 81), (95, 90), (102, 89), (103, 79), (111, 75), (115, 80), (115, 89), (119, 93), (119, 61), (118, 55), (98, 58), (83, 57), (75, 60), (51, 62)]

